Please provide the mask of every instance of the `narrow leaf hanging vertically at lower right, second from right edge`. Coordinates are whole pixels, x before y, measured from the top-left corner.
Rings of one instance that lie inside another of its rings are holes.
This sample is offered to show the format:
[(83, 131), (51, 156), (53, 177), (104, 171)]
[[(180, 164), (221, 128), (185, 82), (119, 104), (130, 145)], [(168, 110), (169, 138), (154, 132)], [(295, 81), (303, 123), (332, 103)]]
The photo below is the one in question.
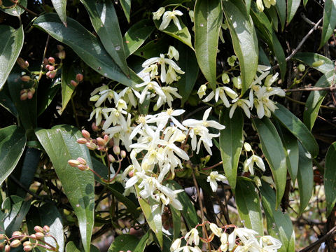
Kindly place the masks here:
[(299, 185), (300, 209), (297, 216), (301, 216), (307, 207), (314, 188), (314, 174), (311, 154), (299, 143), (299, 170), (297, 172), (297, 183)]

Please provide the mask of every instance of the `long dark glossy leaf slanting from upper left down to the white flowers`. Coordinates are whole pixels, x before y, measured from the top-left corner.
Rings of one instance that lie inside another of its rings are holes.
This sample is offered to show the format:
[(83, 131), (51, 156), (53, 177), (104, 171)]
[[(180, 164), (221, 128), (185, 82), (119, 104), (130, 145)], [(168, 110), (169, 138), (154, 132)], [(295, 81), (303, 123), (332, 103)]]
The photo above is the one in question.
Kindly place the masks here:
[(109, 57), (102, 43), (76, 20), (67, 18), (68, 27), (64, 27), (55, 13), (41, 15), (34, 21), (34, 25), (48, 32), (50, 36), (69, 45), (83, 61), (94, 71), (107, 78), (116, 80), (127, 86), (141, 83), (141, 79), (130, 71), (130, 78), (120, 70), (118, 65)]

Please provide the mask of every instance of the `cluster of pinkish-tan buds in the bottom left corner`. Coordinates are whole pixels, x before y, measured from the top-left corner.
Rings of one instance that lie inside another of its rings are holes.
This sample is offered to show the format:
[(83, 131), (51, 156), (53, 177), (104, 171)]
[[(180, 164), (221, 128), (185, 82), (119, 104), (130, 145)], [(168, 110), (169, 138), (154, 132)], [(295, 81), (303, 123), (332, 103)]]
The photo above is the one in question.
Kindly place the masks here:
[[(27, 235), (20, 231), (15, 231), (10, 238), (4, 234), (0, 234), (0, 239), (5, 240), (0, 243), (0, 250), (4, 248), (5, 252), (9, 252), (10, 248), (18, 248), (18, 246), (22, 245), (23, 251), (32, 251), (34, 248), (36, 248), (36, 246), (46, 248), (48, 251), (58, 251), (59, 246), (57, 244), (57, 241), (55, 237), (50, 235), (50, 228), (47, 225), (45, 225), (43, 228), (40, 226), (35, 226), (34, 231), (36, 233), (31, 235)], [(46, 241), (43, 241), (44, 237), (52, 237), (52, 239), (55, 240), (56, 246), (53, 246)], [(29, 241), (28, 239), (34, 241)]]

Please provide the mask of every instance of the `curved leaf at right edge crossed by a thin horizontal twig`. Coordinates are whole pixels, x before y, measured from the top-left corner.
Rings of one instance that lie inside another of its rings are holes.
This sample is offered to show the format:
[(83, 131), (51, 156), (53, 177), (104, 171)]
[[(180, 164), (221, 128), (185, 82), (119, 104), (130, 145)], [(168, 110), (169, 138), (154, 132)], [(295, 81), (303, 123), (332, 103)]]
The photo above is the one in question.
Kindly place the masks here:
[[(321, 76), (314, 87), (331, 87), (334, 79), (335, 71), (332, 70)], [(324, 100), (325, 95), (327, 94), (327, 90), (312, 91), (309, 93), (303, 112), (303, 122), (309, 130), (314, 127), (315, 120), (318, 116), (318, 111), (320, 110), (320, 106)]]

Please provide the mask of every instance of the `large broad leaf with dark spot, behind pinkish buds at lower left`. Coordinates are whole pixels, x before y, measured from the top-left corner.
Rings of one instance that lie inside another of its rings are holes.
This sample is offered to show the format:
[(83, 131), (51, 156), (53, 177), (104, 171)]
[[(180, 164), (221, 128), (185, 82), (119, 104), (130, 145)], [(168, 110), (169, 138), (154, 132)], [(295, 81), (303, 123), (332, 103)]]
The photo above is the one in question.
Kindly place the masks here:
[(36, 136), (48, 154), (64, 193), (78, 218), (84, 249), (90, 251), (94, 224), (94, 176), (90, 171), (82, 172), (68, 164), (68, 160), (80, 157), (92, 167), (90, 153), (85, 146), (77, 143), (77, 139), (82, 136), (73, 126), (55, 126), (50, 130), (38, 130)]

